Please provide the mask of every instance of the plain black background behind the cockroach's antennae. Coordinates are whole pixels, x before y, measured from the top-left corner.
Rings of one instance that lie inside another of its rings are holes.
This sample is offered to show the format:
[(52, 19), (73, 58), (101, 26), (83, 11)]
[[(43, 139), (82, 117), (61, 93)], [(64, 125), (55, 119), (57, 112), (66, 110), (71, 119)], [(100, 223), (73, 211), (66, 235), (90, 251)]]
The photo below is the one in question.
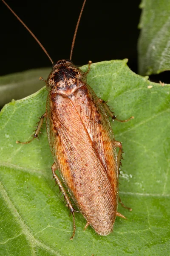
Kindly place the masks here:
[[(7, 0), (10, 7), (37, 36), (53, 61), (69, 58), (74, 29), (83, 0)], [(140, 0), (87, 0), (79, 25), (72, 61), (87, 64), (128, 58), (137, 73), (137, 29)], [(51, 62), (23, 25), (0, 2), (0, 75), (38, 67)]]

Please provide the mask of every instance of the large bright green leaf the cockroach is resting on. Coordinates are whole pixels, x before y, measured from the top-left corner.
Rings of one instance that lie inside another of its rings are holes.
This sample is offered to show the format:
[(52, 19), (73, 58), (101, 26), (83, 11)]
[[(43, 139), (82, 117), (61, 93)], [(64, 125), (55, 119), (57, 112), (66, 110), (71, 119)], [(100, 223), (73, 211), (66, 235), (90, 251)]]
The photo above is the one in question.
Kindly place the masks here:
[(135, 117), (127, 123), (113, 122), (116, 140), (122, 141), (126, 153), (120, 196), (133, 211), (119, 206), (127, 220), (117, 217), (108, 236), (97, 235), (91, 227), (84, 232), (86, 221), (77, 213), (76, 236), (69, 240), (72, 216), (51, 180), (53, 159), (45, 129), (40, 141), (15, 143), (30, 138), (37, 117), (45, 112), (43, 88), (12, 101), (0, 113), (0, 255), (168, 255), (170, 85), (134, 74), (126, 62), (92, 64), (88, 83), (120, 119)]

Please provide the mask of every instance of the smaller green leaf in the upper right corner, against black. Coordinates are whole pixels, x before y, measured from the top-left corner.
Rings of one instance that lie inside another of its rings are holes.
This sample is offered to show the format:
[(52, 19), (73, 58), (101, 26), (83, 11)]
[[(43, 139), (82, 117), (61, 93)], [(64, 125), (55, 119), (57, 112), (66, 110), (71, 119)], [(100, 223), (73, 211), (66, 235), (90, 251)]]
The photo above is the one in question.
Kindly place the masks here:
[(139, 73), (170, 70), (170, 1), (142, 0), (140, 7)]

